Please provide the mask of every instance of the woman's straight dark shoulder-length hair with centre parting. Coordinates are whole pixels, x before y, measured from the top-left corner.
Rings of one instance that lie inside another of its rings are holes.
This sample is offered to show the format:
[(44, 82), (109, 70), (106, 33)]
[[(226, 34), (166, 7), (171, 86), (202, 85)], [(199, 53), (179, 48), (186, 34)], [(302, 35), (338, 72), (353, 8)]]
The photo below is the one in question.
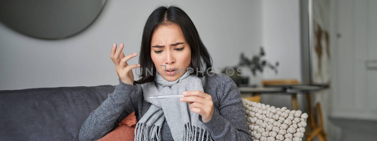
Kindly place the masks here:
[[(156, 68), (150, 56), (150, 42), (152, 40), (152, 34), (157, 27), (172, 24), (176, 24), (181, 27), (184, 38), (190, 45), (190, 65), (193, 68), (193, 73), (191, 73), (191, 75), (198, 74), (198, 77), (202, 77), (207, 75), (207, 69), (208, 72), (212, 71), (211, 56), (200, 39), (198, 30), (196, 30), (196, 27), (190, 17), (182, 9), (176, 6), (159, 6), (149, 15), (144, 26), (139, 53), (141, 75), (139, 76), (140, 79), (135, 81), (135, 83), (142, 84), (153, 82), (155, 80)], [(200, 61), (201, 57), (206, 65), (206, 68), (204, 68), (204, 70), (197, 71), (197, 69), (200, 69), (200, 66), (202, 65)], [(146, 69), (148, 69), (152, 74), (149, 72), (147, 73)], [(201, 71), (203, 71), (203, 73)]]

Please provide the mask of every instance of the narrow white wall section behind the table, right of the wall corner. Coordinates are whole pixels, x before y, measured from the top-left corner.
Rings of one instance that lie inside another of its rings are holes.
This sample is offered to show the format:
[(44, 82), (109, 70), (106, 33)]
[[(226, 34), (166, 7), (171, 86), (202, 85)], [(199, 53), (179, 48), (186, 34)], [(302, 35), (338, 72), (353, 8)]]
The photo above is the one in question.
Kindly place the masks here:
[[(262, 1), (262, 45), (266, 59), (279, 61), (278, 73), (266, 70), (263, 79), (298, 79), (301, 81), (299, 0)], [(299, 109), (303, 98), (299, 94)], [(290, 95), (262, 95), (261, 102), (277, 107), (291, 106)]]

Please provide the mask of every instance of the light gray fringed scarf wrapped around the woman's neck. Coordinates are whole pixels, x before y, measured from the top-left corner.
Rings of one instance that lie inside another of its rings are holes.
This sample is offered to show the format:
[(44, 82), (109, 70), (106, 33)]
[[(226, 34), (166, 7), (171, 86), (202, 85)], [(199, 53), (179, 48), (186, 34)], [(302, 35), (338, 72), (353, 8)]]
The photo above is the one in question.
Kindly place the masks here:
[(204, 124), (199, 121), (199, 114), (191, 112), (188, 103), (180, 102), (179, 98), (149, 99), (153, 96), (182, 94), (183, 91), (204, 91), (205, 76), (190, 74), (186, 71), (177, 80), (168, 81), (156, 73), (154, 82), (141, 84), (144, 100), (152, 105), (136, 124), (134, 141), (161, 141), (164, 120), (167, 120), (175, 141), (212, 140)]

